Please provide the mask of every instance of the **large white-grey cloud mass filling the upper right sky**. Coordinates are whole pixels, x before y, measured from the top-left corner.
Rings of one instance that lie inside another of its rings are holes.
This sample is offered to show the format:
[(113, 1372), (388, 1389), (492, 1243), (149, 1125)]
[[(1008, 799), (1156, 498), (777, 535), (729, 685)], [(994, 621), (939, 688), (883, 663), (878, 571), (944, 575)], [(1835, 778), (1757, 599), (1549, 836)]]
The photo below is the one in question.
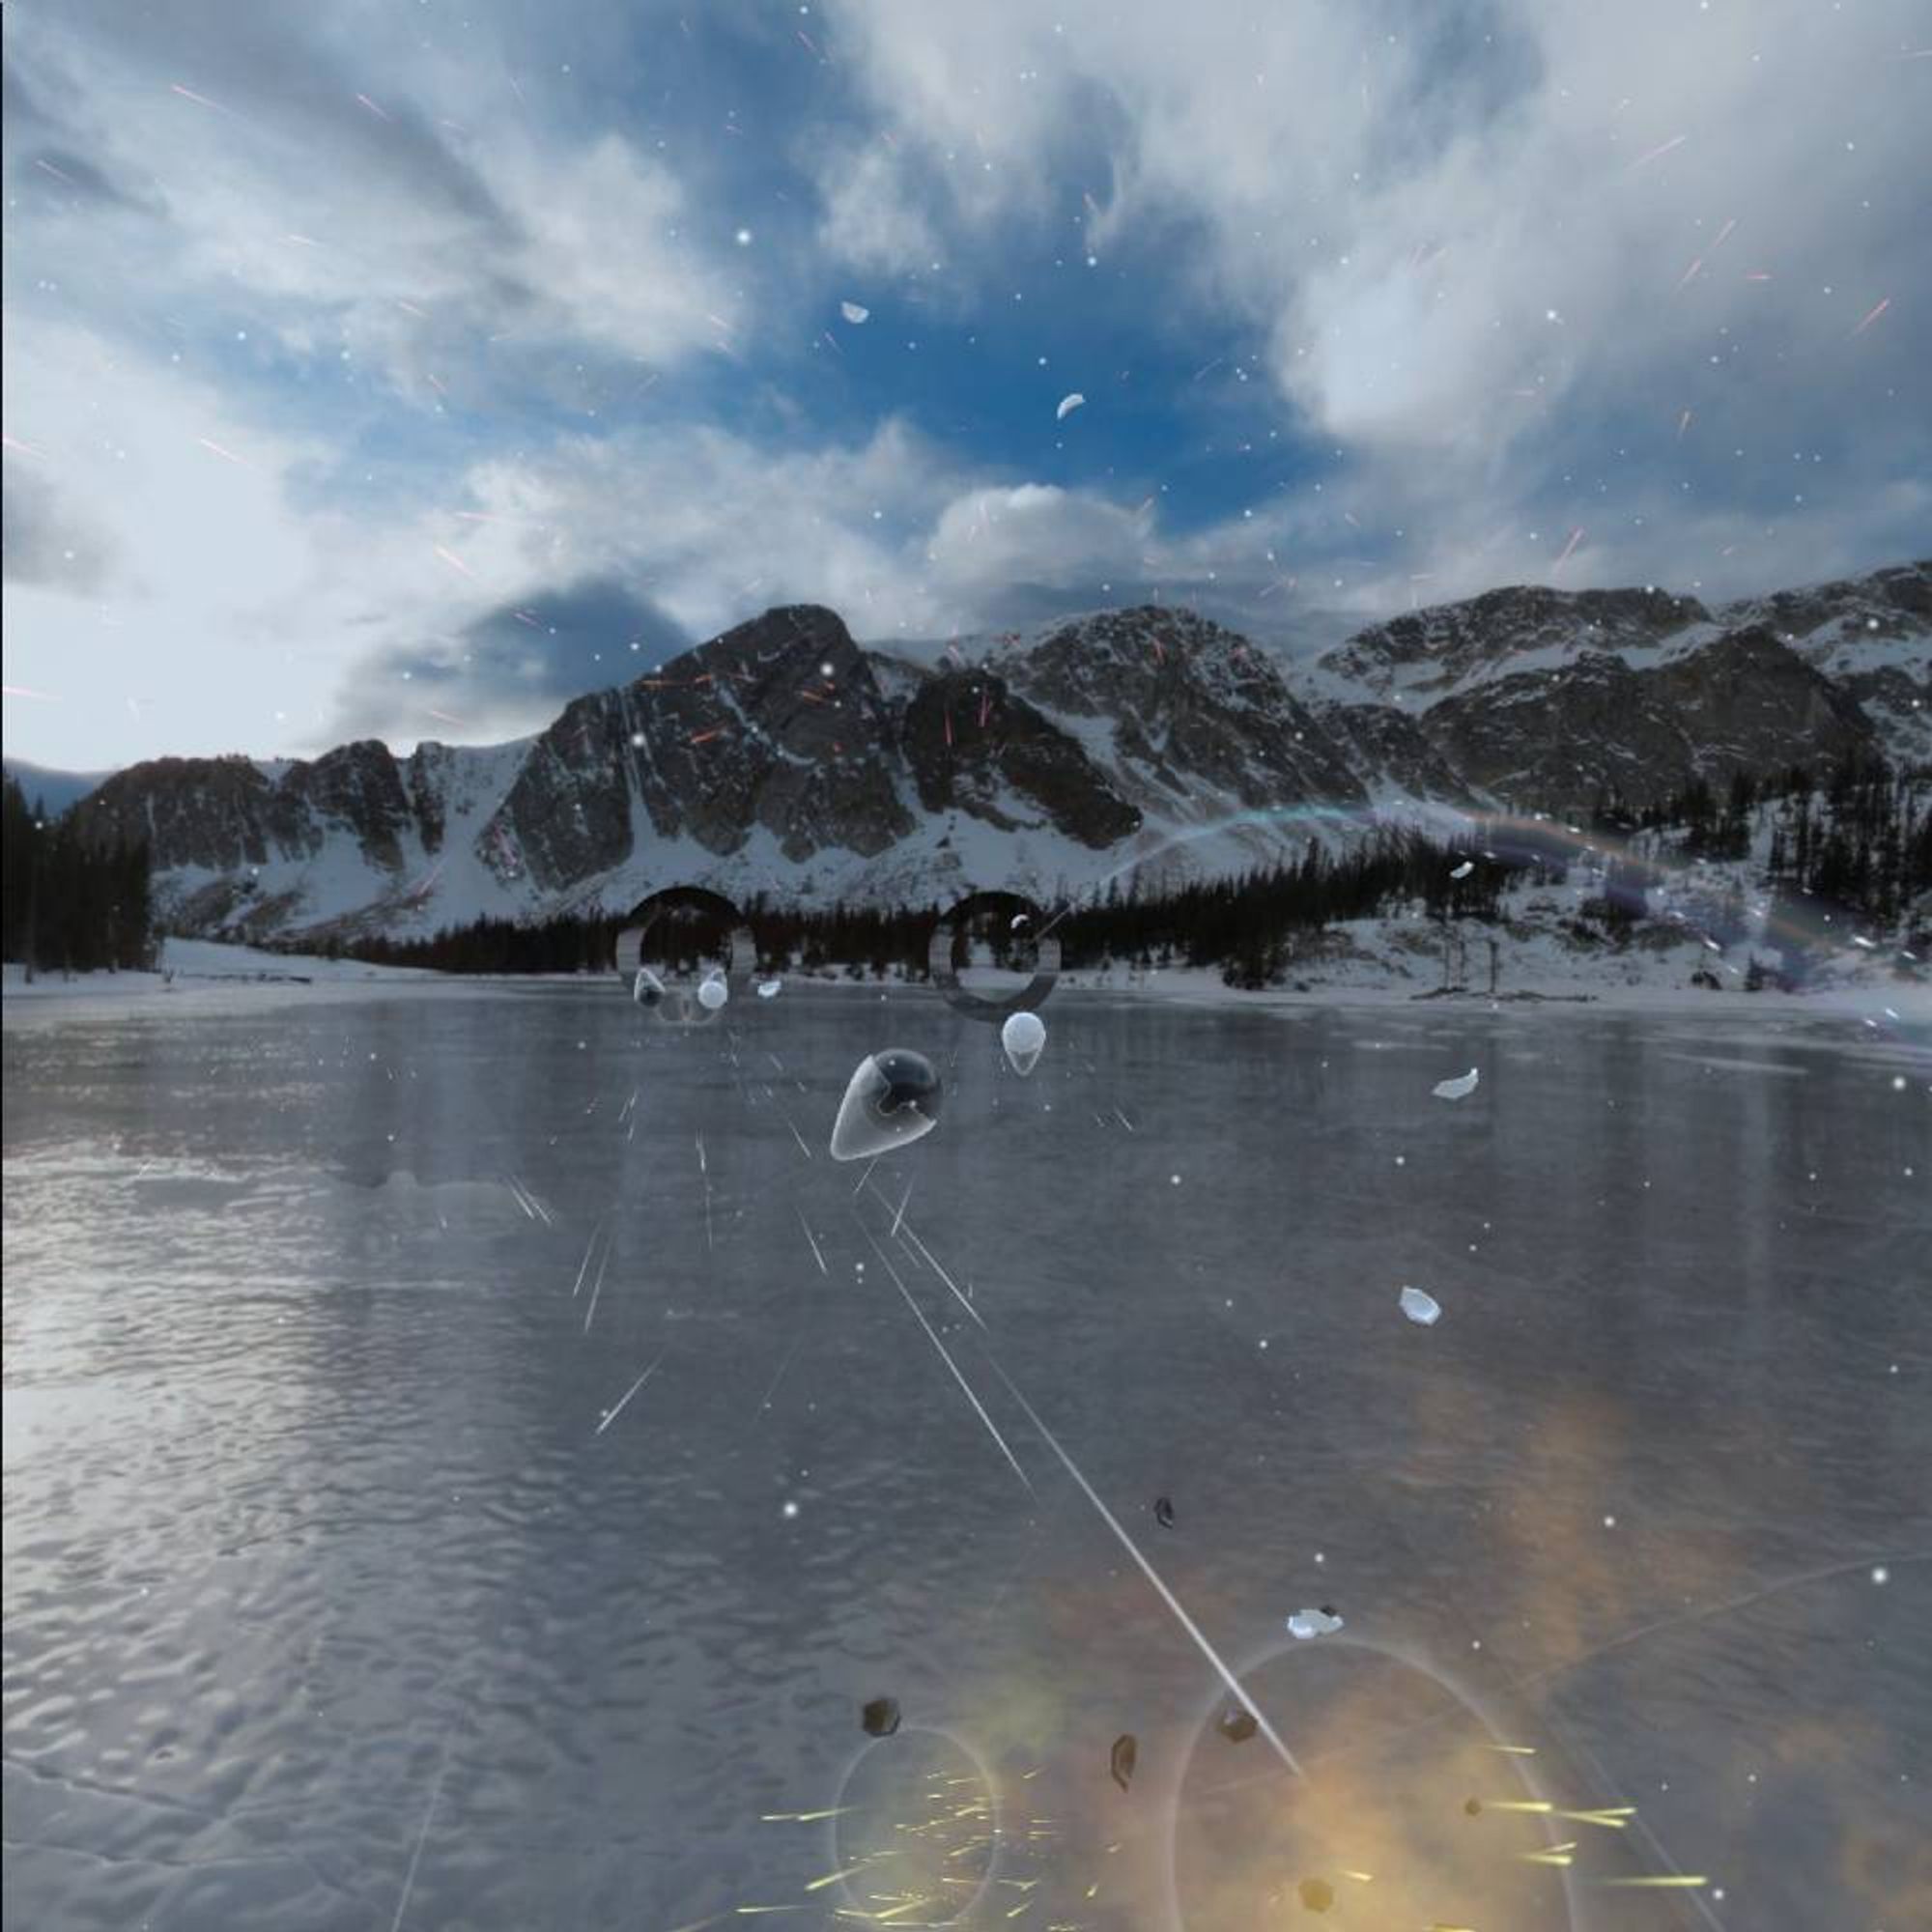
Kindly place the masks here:
[(1855, 334), (1932, 301), (1899, 0), (831, 14), (949, 255), (1084, 164), (1090, 242), (1180, 238), (1175, 325), (1246, 317), (1300, 423), (1424, 518), (1567, 495), (1571, 527), (1629, 526), (1625, 440), (1803, 526), (1774, 466), (1847, 417), (1874, 489), (1924, 468), (1924, 410), (1888, 408), (1926, 398), (1909, 330)]

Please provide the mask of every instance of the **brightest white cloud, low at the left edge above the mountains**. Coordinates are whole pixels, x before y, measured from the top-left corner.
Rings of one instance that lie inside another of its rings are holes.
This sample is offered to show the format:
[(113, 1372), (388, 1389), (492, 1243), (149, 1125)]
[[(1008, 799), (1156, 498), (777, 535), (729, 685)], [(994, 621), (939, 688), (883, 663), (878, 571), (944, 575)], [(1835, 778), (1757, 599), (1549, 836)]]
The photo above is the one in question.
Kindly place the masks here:
[(6, 682), (50, 694), (10, 705), (8, 736), (46, 763), (313, 742), (352, 639), (464, 607), (427, 545), (294, 504), (315, 442), (172, 365), (19, 317), (6, 388), (8, 433), (112, 558), (99, 582), (8, 583)]

